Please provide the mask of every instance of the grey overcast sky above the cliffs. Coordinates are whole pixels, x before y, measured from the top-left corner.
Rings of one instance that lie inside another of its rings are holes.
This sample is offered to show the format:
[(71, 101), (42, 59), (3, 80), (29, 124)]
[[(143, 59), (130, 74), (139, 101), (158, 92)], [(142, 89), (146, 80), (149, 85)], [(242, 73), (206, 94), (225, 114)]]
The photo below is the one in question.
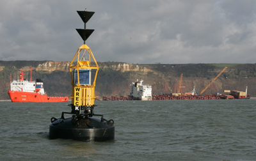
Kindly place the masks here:
[(253, 0), (0, 0), (0, 60), (72, 61), (77, 10), (95, 11), (86, 44), (97, 61), (256, 63)]

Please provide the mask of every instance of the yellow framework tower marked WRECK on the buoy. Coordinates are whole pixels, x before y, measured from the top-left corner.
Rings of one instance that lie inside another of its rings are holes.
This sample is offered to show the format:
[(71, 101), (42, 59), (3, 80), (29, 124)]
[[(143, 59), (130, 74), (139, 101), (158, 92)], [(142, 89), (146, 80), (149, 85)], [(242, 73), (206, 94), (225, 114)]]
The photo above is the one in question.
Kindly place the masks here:
[[(86, 56), (86, 52), (88, 52), (88, 56)], [(72, 98), (72, 112), (81, 114), (81, 110), (84, 109), (86, 114), (92, 115), (94, 99), (96, 98), (94, 95), (95, 82), (99, 66), (92, 50), (86, 44), (79, 47), (69, 69), (72, 79), (72, 96), (70, 96)], [(95, 70), (93, 82), (91, 82), (92, 70)]]

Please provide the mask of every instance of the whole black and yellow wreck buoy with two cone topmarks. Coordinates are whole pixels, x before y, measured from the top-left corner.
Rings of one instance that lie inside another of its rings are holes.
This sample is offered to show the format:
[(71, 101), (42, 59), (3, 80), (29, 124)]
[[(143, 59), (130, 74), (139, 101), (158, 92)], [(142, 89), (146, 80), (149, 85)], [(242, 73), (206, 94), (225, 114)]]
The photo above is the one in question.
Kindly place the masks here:
[[(115, 138), (113, 119), (106, 120), (103, 114), (94, 114), (95, 83), (99, 66), (92, 50), (85, 41), (94, 29), (86, 29), (86, 22), (95, 13), (93, 11), (77, 11), (84, 22), (84, 29), (76, 29), (84, 40), (74, 58), (70, 62), (70, 76), (72, 84), (71, 112), (62, 112), (61, 118), (51, 118), (49, 129), (50, 139), (75, 139), (79, 141), (106, 141)], [(93, 82), (92, 82), (93, 81)], [(72, 114), (65, 118), (64, 114)], [(95, 118), (93, 116), (101, 116)]]

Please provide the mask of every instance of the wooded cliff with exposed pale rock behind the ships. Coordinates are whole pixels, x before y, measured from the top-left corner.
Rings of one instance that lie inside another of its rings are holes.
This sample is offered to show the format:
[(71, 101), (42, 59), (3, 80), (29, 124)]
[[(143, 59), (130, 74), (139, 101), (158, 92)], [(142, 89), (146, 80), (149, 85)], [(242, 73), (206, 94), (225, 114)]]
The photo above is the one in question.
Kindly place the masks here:
[[(0, 99), (8, 99), (10, 74), (17, 78), (20, 68), (30, 77), (30, 66), (34, 66), (33, 80), (40, 78), (44, 81), (45, 91), (49, 96), (71, 95), (71, 78), (69, 61), (0, 61)], [(180, 74), (183, 74), (182, 93), (197, 89), (200, 93), (211, 81), (228, 66), (216, 81), (203, 93), (223, 93), (224, 89), (245, 91), (256, 95), (256, 65), (131, 65), (118, 62), (98, 62), (99, 73), (95, 93), (102, 96), (127, 96), (131, 91), (131, 82), (143, 79), (145, 84), (152, 85), (152, 94), (176, 93), (179, 89)]]

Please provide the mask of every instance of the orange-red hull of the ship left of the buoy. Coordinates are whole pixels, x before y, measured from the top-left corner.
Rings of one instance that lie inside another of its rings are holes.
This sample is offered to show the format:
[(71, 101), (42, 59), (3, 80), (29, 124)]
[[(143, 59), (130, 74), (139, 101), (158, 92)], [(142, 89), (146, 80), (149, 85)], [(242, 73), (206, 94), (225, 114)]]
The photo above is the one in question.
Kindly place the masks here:
[(36, 92), (8, 91), (12, 102), (67, 102), (68, 97), (39, 95)]

